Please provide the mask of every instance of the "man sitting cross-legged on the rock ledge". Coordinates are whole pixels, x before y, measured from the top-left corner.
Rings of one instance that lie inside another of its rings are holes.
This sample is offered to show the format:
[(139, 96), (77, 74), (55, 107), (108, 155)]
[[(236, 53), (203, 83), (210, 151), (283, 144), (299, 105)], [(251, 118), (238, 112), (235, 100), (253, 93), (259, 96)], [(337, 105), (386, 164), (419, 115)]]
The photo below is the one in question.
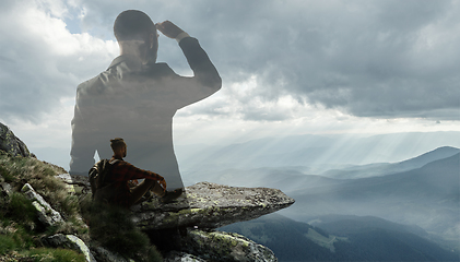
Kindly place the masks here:
[[(95, 193), (95, 200), (107, 202), (129, 209), (138, 203), (150, 191), (161, 196), (162, 202), (170, 202), (182, 193), (181, 189), (166, 191), (166, 181), (158, 174), (137, 168), (123, 160), (127, 155), (127, 144), (122, 139), (110, 140), (114, 156), (110, 159), (111, 169), (106, 178), (108, 186), (101, 188)], [(129, 181), (144, 179), (135, 187), (129, 186)]]

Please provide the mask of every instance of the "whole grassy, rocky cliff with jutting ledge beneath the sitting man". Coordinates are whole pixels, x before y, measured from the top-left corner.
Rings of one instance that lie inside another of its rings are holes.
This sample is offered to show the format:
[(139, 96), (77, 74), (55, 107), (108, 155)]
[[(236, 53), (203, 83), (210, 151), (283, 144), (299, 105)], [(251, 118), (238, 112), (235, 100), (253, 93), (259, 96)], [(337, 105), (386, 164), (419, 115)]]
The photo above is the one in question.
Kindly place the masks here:
[[(66, 261), (63, 250), (74, 252), (69, 261), (276, 261), (267, 247), (215, 228), (292, 205), (280, 190), (200, 182), (173, 203), (152, 198), (128, 213), (106, 211), (91, 205), (86, 177), (30, 157), (25, 144), (0, 128), (0, 261), (42, 258), (38, 250), (54, 255), (49, 261)], [(153, 248), (141, 250), (145, 243)]]

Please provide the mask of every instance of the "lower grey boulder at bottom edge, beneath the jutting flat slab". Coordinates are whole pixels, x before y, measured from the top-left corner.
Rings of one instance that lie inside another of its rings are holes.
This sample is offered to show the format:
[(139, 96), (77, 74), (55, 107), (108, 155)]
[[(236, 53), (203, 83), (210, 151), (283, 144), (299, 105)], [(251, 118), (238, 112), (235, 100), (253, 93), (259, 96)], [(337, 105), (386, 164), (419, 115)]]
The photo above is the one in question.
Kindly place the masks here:
[(275, 262), (274, 253), (267, 247), (234, 233), (189, 229), (182, 238), (184, 251), (205, 261)]

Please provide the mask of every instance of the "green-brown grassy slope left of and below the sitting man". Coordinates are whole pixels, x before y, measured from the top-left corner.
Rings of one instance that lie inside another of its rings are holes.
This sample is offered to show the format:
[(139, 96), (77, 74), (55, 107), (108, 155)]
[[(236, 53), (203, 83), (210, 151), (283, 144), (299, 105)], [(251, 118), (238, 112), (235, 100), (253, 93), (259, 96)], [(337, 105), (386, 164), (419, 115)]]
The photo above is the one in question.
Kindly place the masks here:
[[(149, 237), (135, 227), (129, 211), (94, 205), (91, 198), (83, 198), (79, 203), (79, 196), (69, 193), (67, 184), (56, 178), (63, 171), (33, 157), (13, 157), (0, 151), (0, 180), (9, 182), (16, 191), (10, 196), (0, 191), (0, 209), (5, 211), (0, 214), (2, 258), (14, 258), (11, 261), (84, 261), (83, 255), (71, 250), (40, 248), (37, 239), (62, 233), (76, 235), (85, 242), (90, 242), (91, 237), (93, 246), (102, 246), (139, 262), (163, 261)], [(40, 224), (32, 201), (17, 192), (26, 182), (62, 215), (63, 224), (48, 228), (37, 226)], [(83, 221), (90, 224), (90, 230)]]

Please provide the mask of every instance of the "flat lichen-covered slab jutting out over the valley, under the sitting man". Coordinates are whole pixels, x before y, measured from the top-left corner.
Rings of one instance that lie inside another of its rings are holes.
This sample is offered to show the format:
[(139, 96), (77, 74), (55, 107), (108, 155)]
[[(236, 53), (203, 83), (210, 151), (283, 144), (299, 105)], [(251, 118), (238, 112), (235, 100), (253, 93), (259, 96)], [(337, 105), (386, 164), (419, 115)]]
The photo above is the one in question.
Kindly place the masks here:
[(294, 199), (281, 190), (237, 188), (211, 182), (187, 187), (170, 204), (157, 198), (132, 207), (133, 219), (144, 230), (174, 227), (217, 228), (285, 209)]

